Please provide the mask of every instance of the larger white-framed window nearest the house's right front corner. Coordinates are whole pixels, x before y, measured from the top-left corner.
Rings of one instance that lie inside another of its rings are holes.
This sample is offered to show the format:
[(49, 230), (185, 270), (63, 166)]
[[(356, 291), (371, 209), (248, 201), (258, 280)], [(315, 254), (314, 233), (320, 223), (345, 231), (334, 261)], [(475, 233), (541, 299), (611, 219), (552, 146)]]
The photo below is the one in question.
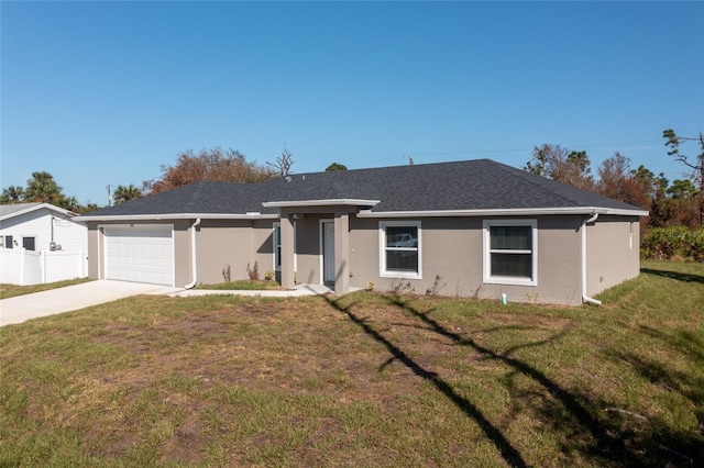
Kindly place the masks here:
[(484, 281), (536, 286), (537, 221), (484, 221)]

